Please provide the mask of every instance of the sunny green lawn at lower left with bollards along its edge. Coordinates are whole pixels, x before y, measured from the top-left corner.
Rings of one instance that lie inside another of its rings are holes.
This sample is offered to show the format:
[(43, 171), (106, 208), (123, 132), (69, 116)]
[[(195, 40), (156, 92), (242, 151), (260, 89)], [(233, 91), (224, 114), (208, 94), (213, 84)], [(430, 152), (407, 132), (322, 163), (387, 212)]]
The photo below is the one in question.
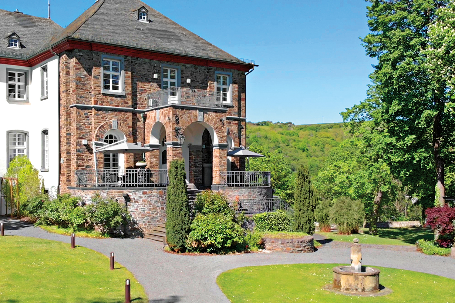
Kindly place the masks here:
[(126, 268), (91, 249), (38, 238), (0, 237), (1, 303), (121, 303), (125, 280), (131, 299), (146, 303), (147, 295)]

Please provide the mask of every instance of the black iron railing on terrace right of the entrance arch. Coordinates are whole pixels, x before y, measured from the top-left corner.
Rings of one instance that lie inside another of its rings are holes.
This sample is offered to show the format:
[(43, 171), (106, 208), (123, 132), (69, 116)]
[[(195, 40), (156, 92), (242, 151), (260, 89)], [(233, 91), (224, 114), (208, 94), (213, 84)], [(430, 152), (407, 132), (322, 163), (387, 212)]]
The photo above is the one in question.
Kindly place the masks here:
[(231, 171), (220, 176), (225, 186), (270, 186), (270, 172)]

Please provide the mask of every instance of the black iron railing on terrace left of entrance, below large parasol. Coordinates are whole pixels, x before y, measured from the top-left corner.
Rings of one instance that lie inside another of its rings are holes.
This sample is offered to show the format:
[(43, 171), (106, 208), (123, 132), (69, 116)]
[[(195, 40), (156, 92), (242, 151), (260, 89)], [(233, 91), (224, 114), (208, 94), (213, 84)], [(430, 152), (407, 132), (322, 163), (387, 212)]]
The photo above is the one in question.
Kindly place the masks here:
[(167, 169), (77, 169), (77, 187), (162, 187), (167, 186)]

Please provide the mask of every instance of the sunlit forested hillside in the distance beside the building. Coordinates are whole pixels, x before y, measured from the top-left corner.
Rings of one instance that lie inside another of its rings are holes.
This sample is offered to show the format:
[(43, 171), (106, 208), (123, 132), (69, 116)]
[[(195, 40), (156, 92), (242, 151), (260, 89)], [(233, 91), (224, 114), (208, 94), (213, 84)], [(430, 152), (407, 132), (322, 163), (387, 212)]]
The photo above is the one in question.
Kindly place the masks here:
[(282, 153), (293, 170), (299, 164), (308, 165), (311, 176), (318, 174), (330, 149), (344, 139), (343, 123), (247, 123), (247, 146), (258, 144), (264, 151)]

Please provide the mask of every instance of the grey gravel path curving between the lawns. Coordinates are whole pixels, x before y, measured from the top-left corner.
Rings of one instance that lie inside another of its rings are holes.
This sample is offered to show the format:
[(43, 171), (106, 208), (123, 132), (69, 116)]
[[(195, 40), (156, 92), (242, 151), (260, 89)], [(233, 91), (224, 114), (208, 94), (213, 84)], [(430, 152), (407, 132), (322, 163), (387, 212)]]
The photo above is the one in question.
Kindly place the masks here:
[[(2, 221), (0, 219), (0, 221)], [(21, 235), (70, 243), (70, 237), (48, 233), (17, 220), (3, 220), (5, 235)], [(348, 243), (349, 244), (349, 243)], [(69, 244), (68, 244), (69, 245)], [(227, 256), (182, 256), (165, 253), (162, 245), (148, 239), (76, 238), (76, 245), (100, 253), (116, 254), (144, 286), (152, 303), (229, 303), (216, 284), (217, 276), (232, 268), (290, 263), (349, 263), (349, 246), (330, 242), (315, 253), (245, 253)], [(455, 260), (427, 256), (412, 247), (362, 246), (364, 264), (409, 269), (455, 279)], [(392, 248), (392, 249), (391, 249)]]

